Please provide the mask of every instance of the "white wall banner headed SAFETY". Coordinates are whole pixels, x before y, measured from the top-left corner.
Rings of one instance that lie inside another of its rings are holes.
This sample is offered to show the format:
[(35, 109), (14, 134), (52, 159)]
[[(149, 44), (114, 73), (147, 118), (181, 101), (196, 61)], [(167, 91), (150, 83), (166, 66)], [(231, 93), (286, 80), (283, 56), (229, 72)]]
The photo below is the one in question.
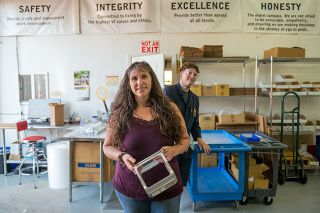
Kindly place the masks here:
[(78, 2), (0, 0), (0, 36), (79, 33)]

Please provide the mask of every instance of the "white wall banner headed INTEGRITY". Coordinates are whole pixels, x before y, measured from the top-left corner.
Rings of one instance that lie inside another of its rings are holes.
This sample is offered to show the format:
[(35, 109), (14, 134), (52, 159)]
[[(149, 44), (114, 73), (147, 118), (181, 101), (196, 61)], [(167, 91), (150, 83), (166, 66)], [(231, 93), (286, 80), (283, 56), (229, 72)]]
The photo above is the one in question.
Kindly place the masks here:
[(82, 33), (160, 31), (160, 0), (81, 0)]

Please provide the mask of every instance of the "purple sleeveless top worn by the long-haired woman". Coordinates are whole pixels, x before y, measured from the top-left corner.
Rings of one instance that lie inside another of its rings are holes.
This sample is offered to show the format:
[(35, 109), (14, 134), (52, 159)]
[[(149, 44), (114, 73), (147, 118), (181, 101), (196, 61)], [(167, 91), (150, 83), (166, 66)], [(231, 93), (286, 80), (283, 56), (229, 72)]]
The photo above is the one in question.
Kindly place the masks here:
[[(130, 122), (130, 129), (123, 141), (122, 151), (132, 155), (136, 162), (149, 157), (153, 153), (160, 150), (163, 146), (172, 146), (174, 141), (161, 134), (155, 120), (146, 121), (136, 117)], [(169, 161), (169, 164), (177, 176), (177, 183), (160, 193), (154, 198), (149, 198), (143, 189), (138, 176), (131, 172), (125, 165), (119, 162), (116, 164), (115, 174), (113, 178), (113, 187), (122, 194), (136, 200), (143, 201), (160, 201), (173, 198), (183, 191), (179, 166), (176, 158)], [(143, 179), (147, 186), (154, 184), (166, 177), (168, 172), (165, 166), (156, 166), (143, 174)]]

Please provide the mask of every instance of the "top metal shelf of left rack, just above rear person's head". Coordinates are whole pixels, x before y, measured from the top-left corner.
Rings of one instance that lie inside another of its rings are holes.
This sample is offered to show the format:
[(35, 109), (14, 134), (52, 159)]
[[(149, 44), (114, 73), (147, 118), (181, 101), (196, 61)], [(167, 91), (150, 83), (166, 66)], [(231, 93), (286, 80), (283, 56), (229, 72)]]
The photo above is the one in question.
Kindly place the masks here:
[(201, 63), (248, 63), (249, 56), (234, 56), (234, 57), (221, 57), (221, 58), (203, 58), (203, 57), (182, 57), (182, 61), (201, 62)]

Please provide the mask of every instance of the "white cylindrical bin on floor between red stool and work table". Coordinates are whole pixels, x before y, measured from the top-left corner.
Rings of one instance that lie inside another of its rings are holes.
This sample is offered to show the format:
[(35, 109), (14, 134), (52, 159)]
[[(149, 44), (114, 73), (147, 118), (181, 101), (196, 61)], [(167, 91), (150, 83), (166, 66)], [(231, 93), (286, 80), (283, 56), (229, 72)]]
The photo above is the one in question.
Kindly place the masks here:
[(69, 141), (47, 145), (48, 180), (51, 189), (69, 187)]

